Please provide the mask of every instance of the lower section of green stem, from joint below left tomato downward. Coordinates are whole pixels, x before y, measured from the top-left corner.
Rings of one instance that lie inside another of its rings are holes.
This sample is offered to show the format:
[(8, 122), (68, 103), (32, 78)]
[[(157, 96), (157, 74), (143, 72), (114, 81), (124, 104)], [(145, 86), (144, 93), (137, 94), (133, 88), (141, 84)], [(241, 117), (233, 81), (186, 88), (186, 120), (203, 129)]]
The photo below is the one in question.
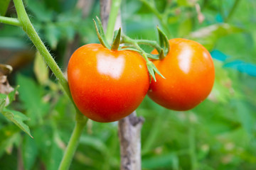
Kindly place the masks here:
[[(78, 120), (82, 118), (82, 120)], [(82, 130), (85, 128), (87, 123), (87, 118), (82, 115), (82, 117), (77, 118), (77, 122), (75, 123), (75, 128), (70, 137), (70, 141), (68, 142), (68, 147), (65, 149), (65, 153), (63, 155), (63, 159), (60, 162), (59, 170), (68, 170), (72, 159), (75, 154), (75, 150), (78, 147), (80, 136), (82, 135)]]

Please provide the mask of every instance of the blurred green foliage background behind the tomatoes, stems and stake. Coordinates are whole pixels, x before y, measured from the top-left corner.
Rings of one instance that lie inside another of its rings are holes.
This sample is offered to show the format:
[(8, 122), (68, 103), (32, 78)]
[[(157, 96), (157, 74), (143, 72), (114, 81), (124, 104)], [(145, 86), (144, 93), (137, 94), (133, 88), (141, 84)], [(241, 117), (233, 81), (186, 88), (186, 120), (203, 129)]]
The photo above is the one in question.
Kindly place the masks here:
[[(92, 18), (100, 16), (99, 1), (91, 1), (84, 10), (73, 0), (25, 3), (32, 23), (63, 70), (70, 52), (98, 42)], [(197, 3), (201, 11), (196, 11)], [(192, 111), (169, 111), (148, 97), (137, 109), (146, 120), (142, 169), (255, 170), (256, 1), (123, 0), (121, 11), (123, 31), (132, 38), (157, 40), (159, 25), (169, 38), (201, 42), (215, 58), (213, 91)], [(6, 16), (15, 17), (14, 8)], [(19, 55), (19, 50), (31, 51), (33, 45), (20, 28), (1, 24), (1, 59), (6, 50)], [(9, 109), (23, 116), (33, 139), (0, 114), (1, 170), (58, 169), (75, 123), (72, 104), (40, 55), (30, 65), (21, 65), (9, 77), (20, 86)], [(117, 123), (89, 121), (71, 169), (119, 169), (119, 161)]]

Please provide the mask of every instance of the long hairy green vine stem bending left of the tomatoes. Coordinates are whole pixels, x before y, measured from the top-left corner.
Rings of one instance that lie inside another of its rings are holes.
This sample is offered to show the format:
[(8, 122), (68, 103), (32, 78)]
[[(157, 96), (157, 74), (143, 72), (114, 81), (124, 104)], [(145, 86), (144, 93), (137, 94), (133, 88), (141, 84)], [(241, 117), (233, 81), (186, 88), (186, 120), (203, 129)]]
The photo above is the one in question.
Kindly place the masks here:
[[(43, 56), (43, 59), (48, 64), (53, 74), (55, 74), (55, 77), (57, 77), (58, 81), (60, 81), (60, 85), (63, 86), (63, 90), (65, 91), (65, 93), (68, 95), (70, 100), (73, 102), (73, 105), (75, 106), (73, 98), (70, 94), (70, 89), (68, 87), (68, 81), (65, 79), (65, 76), (63, 72), (61, 72), (60, 67), (58, 67), (58, 64), (56, 64), (55, 60), (50, 55), (50, 52), (47, 50), (41, 38), (38, 36), (38, 33), (36, 33), (35, 28), (33, 28), (33, 25), (30, 19), (28, 18), (28, 14), (26, 13), (25, 7), (23, 5), (23, 1), (14, 0), (14, 6), (16, 8), (16, 12), (18, 15), (18, 22), (16, 20), (9, 20), (9, 21), (13, 21), (9, 23), (15, 23), (15, 24), (20, 23), (16, 25), (21, 26), (21, 28), (25, 31), (25, 33), (31, 39), (31, 41), (33, 42), (33, 45), (35, 45), (37, 50), (41, 53), (41, 55)], [(76, 109), (75, 128), (73, 130), (73, 134), (70, 137), (70, 141), (68, 142), (68, 147), (65, 150), (63, 159), (60, 162), (60, 166), (59, 166), (60, 170), (69, 169), (69, 166), (75, 154), (75, 150), (78, 147), (79, 139), (80, 139), (80, 136), (82, 135), (82, 130), (84, 129), (88, 120), (88, 118), (86, 118), (84, 115), (82, 115), (82, 113), (80, 113), (80, 111), (76, 106), (75, 106), (75, 109)]]

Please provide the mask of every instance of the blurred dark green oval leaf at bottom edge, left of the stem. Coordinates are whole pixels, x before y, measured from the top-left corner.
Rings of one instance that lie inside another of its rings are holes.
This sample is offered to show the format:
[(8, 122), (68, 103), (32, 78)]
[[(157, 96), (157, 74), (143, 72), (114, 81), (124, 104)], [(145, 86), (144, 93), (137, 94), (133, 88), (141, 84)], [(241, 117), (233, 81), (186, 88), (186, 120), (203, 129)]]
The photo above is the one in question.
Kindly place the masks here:
[(31, 137), (25, 136), (22, 145), (22, 158), (24, 168), (30, 170), (36, 162), (38, 148), (36, 142)]

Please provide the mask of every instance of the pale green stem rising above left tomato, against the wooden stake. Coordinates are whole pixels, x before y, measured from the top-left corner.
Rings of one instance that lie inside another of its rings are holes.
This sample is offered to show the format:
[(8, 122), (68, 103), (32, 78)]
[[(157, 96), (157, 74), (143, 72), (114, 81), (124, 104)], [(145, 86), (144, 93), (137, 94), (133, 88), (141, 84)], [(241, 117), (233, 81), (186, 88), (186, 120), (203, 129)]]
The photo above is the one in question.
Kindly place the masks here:
[(107, 23), (107, 33), (106, 38), (110, 42), (114, 33), (114, 25), (117, 20), (118, 11), (122, 0), (112, 0), (110, 8), (110, 17)]

